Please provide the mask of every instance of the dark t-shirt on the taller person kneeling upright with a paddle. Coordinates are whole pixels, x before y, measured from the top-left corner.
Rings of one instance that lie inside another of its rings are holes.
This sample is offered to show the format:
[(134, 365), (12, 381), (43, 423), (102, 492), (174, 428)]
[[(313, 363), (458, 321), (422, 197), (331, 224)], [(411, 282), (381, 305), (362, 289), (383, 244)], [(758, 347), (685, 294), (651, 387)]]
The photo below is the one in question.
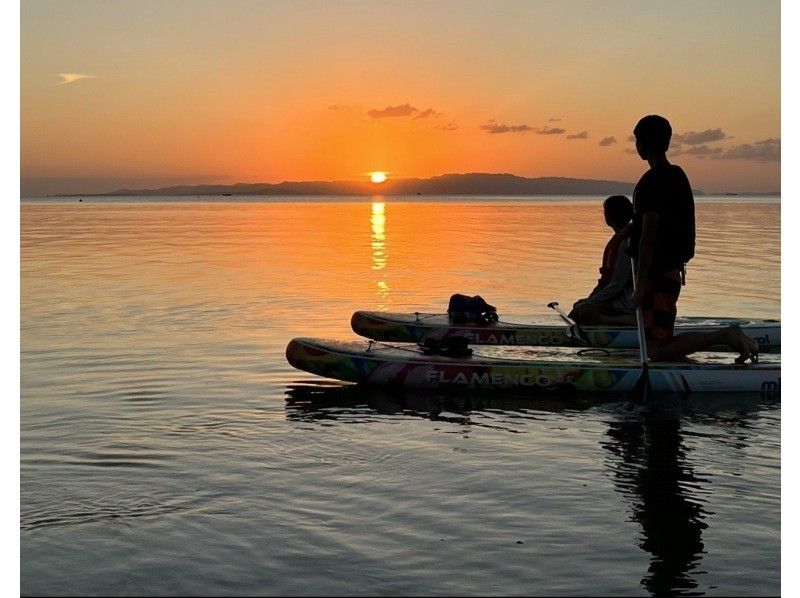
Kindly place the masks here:
[(630, 252), (639, 254), (642, 219), (646, 212), (658, 214), (650, 273), (680, 268), (694, 256), (694, 196), (686, 173), (674, 164), (659, 164), (648, 170), (633, 191), (633, 228)]

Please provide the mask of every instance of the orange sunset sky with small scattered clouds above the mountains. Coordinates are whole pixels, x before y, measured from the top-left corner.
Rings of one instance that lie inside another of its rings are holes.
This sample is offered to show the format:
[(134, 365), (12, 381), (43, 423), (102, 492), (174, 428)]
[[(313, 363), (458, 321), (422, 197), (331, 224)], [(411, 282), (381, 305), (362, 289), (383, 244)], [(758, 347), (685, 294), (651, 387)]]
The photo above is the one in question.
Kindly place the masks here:
[(21, 193), (509, 172), (777, 191), (777, 0), (26, 0)]

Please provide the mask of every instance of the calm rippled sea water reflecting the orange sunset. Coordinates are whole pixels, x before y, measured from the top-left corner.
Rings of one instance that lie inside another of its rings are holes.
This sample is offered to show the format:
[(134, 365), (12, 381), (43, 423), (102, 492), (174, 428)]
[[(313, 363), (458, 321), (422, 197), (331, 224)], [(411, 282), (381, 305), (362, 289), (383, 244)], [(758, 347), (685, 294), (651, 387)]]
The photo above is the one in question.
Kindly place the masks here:
[[(780, 317), (780, 202), (698, 201), (687, 315)], [(356, 309), (594, 285), (600, 199), (21, 206), (27, 595), (780, 592), (780, 399), (386, 393)]]

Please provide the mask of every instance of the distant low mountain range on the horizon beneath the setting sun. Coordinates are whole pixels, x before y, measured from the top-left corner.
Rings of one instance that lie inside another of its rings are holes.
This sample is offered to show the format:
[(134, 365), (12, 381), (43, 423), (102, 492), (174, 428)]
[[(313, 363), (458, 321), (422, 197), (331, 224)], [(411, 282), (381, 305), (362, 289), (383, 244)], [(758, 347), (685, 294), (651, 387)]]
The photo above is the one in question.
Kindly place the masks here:
[[(159, 189), (118, 189), (94, 195), (628, 195), (634, 183), (572, 179), (525, 178), (513, 174), (445, 174), (428, 179), (367, 181), (298, 181), (236, 183), (235, 185), (181, 185)], [(695, 190), (695, 194), (703, 195)]]

